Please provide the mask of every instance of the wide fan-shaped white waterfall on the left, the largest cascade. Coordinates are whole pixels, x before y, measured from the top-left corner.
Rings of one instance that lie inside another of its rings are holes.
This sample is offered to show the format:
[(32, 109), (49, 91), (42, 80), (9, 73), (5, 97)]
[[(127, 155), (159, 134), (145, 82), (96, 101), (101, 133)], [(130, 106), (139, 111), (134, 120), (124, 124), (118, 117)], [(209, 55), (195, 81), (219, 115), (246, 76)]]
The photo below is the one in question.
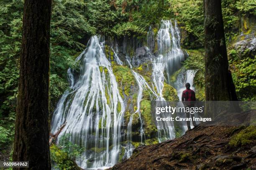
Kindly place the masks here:
[[(90, 39), (88, 47), (78, 57), (82, 64), (80, 76), (70, 86), (70, 92), (66, 91), (61, 97), (51, 122), (54, 132), (67, 122), (59, 136), (71, 133), (73, 143), (80, 143), (85, 150), (95, 148), (94, 153), (84, 153), (79, 161), (82, 168), (87, 168), (89, 158), (95, 159), (91, 167), (113, 166), (120, 149), (125, 106), (103, 47), (104, 40), (100, 36)], [(104, 67), (102, 72), (100, 67)], [(70, 71), (68, 74), (74, 77)]]

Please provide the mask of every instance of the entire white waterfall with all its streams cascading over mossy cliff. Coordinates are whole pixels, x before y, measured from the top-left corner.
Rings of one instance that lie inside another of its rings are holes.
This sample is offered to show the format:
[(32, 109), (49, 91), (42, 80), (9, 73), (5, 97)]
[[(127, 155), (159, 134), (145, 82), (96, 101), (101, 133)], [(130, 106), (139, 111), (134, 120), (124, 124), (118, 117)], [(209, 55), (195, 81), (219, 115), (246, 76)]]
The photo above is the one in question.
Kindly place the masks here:
[[(84, 153), (77, 160), (80, 167), (105, 169), (118, 163), (122, 157), (129, 158), (134, 150), (132, 122), (136, 114), (138, 114), (140, 122), (140, 143), (145, 143), (144, 120), (141, 116), (143, 90), (148, 90), (151, 93), (152, 100), (165, 101), (162, 94), (164, 83), (169, 83), (169, 77), (179, 70), (181, 62), (184, 60), (176, 21), (163, 20), (161, 22), (161, 27), (156, 35), (156, 53), (153, 53), (154, 32), (151, 28), (147, 37), (148, 47), (144, 48), (147, 55), (150, 56), (152, 66), (151, 85), (136, 72), (135, 68), (142, 61), (138, 56), (131, 57), (127, 52), (125, 38), (122, 49), (125, 57), (119, 56), (117, 42), (115, 45), (111, 43), (110, 46), (115, 63), (131, 69), (134, 80), (136, 80), (136, 87), (138, 87), (136, 110), (131, 114), (126, 127), (124, 126), (126, 104), (118, 89), (119, 85), (113, 73), (112, 63), (105, 55), (103, 37), (91, 37), (87, 48), (77, 57), (77, 62), (81, 63), (78, 77), (73, 70), (67, 71), (70, 86), (62, 95), (54, 111), (51, 131), (56, 132), (64, 122), (67, 122), (59, 137), (70, 133), (69, 140), (84, 147)], [(182, 77), (184, 74), (179, 75), (175, 82), (179, 97), (184, 81), (192, 82), (194, 77), (190, 71), (187, 71), (186, 74), (186, 78)], [(159, 142), (175, 138), (172, 124), (166, 122), (156, 128)], [(127, 130), (126, 133), (124, 133), (125, 130)], [(60, 142), (59, 138), (58, 142)], [(124, 155), (120, 155), (122, 148), (125, 148)]]

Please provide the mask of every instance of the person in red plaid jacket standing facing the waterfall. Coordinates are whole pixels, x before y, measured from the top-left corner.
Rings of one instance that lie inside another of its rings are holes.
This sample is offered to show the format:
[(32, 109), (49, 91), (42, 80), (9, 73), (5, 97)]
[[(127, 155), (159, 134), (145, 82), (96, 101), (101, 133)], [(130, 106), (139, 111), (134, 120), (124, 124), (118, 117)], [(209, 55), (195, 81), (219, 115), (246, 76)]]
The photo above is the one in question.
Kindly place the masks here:
[[(190, 89), (190, 84), (187, 82), (186, 83), (186, 90), (184, 90), (182, 92), (182, 102), (184, 104), (184, 107), (195, 107), (195, 101), (196, 101), (196, 97), (195, 97), (195, 92), (194, 90)], [(189, 109), (190, 110), (190, 109)], [(186, 112), (186, 117), (189, 118), (190, 117), (190, 112)], [(191, 114), (191, 118), (192, 118), (192, 124), (193, 126), (196, 126), (196, 123), (194, 121), (194, 114)], [(187, 121), (187, 129), (190, 130), (190, 121)]]

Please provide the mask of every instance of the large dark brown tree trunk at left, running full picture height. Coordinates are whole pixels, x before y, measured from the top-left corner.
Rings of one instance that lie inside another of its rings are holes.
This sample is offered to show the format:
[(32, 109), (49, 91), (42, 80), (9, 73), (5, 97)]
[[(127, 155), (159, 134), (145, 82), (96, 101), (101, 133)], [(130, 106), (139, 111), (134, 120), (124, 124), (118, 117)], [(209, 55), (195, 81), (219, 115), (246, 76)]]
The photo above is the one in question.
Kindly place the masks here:
[(29, 161), (29, 169), (50, 170), (51, 0), (25, 0), (24, 4), (13, 161)]

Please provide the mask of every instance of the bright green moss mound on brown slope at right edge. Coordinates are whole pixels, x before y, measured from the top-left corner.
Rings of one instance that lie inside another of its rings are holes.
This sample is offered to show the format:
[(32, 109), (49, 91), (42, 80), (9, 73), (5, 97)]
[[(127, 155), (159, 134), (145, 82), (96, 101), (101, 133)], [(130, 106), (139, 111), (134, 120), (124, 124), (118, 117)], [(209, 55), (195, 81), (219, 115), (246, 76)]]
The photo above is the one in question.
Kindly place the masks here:
[(248, 126), (234, 135), (230, 141), (230, 146), (244, 146), (256, 140), (256, 126)]

